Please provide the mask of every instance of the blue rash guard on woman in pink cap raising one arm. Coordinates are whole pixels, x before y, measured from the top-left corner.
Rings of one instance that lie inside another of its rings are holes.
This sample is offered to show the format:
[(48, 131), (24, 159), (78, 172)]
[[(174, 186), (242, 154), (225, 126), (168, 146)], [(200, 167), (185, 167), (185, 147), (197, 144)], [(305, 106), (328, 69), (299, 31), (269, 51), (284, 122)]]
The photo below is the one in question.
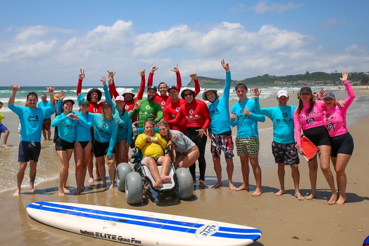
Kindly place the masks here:
[(117, 143), (119, 143), (120, 141), (123, 141), (124, 139), (127, 139), (127, 142), (131, 143), (132, 142), (132, 139), (131, 139), (132, 119), (130, 116), (131, 114), (126, 110), (123, 110), (123, 111), (118, 110), (117, 106), (115, 106), (115, 104), (110, 98), (109, 91), (105, 90), (105, 87), (104, 87), (104, 92), (105, 92), (106, 101), (110, 103), (113, 107), (113, 117), (118, 123)]

